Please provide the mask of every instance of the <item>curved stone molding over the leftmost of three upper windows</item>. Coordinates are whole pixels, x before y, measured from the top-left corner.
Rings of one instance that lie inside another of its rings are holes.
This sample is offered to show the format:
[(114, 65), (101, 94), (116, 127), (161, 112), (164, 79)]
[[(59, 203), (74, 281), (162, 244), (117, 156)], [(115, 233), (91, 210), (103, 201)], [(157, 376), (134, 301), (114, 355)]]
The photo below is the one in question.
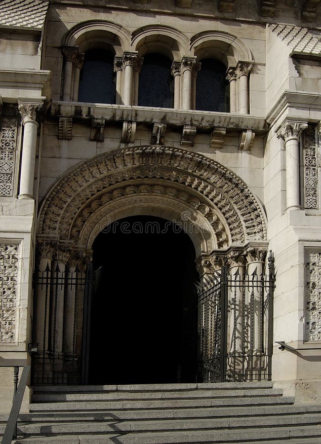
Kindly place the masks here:
[(63, 37), (62, 45), (78, 46), (93, 33), (107, 32), (115, 36), (115, 41), (120, 41), (122, 51), (130, 50), (130, 33), (123, 26), (106, 20), (88, 20), (72, 27)]

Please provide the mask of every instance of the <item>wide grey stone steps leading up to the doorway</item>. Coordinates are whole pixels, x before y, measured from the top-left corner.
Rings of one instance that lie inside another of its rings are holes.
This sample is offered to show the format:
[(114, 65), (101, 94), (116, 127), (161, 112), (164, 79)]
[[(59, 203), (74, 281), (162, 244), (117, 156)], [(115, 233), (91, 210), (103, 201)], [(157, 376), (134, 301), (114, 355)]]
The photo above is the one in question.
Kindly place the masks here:
[(270, 382), (37, 387), (14, 442), (320, 444), (321, 406), (293, 403)]

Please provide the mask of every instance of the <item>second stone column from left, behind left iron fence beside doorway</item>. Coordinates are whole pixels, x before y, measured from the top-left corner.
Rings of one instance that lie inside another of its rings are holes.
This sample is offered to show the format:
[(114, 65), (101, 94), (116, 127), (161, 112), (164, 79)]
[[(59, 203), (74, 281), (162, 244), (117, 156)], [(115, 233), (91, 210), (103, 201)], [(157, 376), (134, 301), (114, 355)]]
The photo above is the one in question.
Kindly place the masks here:
[(51, 352), (63, 352), (64, 297), (66, 264), (71, 253), (69, 245), (59, 245), (56, 250), (51, 272)]

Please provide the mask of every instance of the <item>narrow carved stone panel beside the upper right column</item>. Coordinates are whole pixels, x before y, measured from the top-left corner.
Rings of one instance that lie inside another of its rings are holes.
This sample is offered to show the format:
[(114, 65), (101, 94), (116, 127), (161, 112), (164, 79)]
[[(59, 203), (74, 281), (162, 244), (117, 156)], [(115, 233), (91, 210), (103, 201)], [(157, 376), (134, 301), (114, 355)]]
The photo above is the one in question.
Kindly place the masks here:
[(318, 154), (315, 125), (309, 124), (303, 135), (304, 208), (319, 208)]

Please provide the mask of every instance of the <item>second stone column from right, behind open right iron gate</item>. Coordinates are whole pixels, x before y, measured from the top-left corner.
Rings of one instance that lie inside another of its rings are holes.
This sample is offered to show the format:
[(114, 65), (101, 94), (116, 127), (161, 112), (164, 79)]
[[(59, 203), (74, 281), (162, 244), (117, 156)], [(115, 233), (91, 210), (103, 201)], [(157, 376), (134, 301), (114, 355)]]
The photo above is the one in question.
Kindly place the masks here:
[(244, 352), (244, 275), (245, 254), (239, 250), (229, 252), (231, 287), (229, 289), (228, 350), (233, 355)]

